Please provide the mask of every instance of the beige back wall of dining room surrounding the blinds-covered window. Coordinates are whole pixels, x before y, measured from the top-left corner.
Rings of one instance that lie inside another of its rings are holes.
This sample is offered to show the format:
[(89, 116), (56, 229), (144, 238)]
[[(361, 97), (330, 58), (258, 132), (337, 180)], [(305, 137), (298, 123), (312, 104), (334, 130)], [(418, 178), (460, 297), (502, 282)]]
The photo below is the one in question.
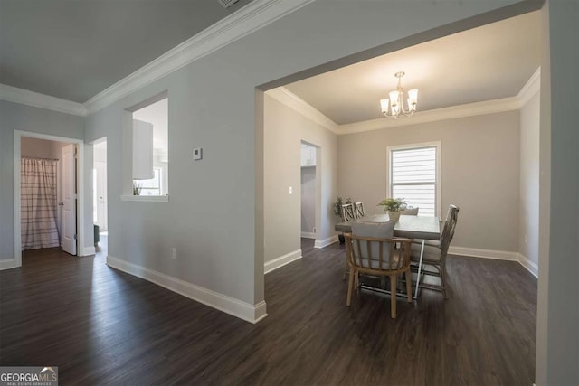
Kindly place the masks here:
[(387, 146), (441, 141), (441, 216), (460, 207), (452, 245), (518, 250), (518, 112), (385, 128), (337, 140), (338, 195), (383, 212)]

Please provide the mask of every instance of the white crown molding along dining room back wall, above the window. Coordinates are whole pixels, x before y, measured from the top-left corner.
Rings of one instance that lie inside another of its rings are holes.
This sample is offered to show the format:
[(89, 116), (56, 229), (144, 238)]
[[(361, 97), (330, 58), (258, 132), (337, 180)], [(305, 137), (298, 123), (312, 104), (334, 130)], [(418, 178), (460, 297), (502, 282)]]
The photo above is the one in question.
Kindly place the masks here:
[(337, 128), (337, 132), (339, 135), (361, 133), (363, 131), (379, 130), (381, 128), (403, 127), (445, 119), (494, 114), (517, 110), (520, 107), (521, 103), (517, 97), (492, 99), (466, 105), (452, 106), (450, 108), (419, 111), (414, 113), (412, 118), (378, 118), (348, 125), (340, 125)]

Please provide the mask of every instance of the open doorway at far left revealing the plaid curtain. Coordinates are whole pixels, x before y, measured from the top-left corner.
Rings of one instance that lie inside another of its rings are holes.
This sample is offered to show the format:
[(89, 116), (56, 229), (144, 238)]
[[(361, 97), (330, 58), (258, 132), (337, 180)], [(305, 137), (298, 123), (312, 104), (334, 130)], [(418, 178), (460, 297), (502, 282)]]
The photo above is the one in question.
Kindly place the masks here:
[(62, 249), (76, 256), (83, 250), (79, 205), (81, 141), (16, 132), (14, 155), (15, 265), (38, 249)]

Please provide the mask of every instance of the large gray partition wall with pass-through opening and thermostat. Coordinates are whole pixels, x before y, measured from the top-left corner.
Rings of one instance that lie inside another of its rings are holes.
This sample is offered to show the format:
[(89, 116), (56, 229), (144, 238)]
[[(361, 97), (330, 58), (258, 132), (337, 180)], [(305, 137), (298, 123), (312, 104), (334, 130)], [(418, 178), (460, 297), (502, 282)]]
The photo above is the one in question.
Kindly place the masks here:
[[(111, 168), (109, 254), (243, 302), (260, 302), (255, 87), (514, 3), (318, 0), (92, 114), (85, 139), (108, 137), (109, 165), (123, 165), (123, 109), (168, 91), (170, 201), (120, 202), (127, 178)], [(460, 28), (469, 23), (474, 25)], [(204, 160), (193, 163), (195, 146), (204, 147)], [(299, 174), (296, 180), (292, 184), (299, 186)], [(322, 208), (322, 217), (329, 209)], [(179, 259), (170, 259), (171, 247)]]

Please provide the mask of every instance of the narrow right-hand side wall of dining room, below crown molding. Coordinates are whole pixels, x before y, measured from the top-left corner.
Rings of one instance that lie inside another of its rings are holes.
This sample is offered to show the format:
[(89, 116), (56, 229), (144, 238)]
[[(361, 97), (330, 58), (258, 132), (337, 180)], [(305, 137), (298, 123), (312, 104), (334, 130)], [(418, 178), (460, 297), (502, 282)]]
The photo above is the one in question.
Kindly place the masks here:
[(520, 198), (518, 251), (539, 263), (539, 134), (540, 94), (520, 110)]

